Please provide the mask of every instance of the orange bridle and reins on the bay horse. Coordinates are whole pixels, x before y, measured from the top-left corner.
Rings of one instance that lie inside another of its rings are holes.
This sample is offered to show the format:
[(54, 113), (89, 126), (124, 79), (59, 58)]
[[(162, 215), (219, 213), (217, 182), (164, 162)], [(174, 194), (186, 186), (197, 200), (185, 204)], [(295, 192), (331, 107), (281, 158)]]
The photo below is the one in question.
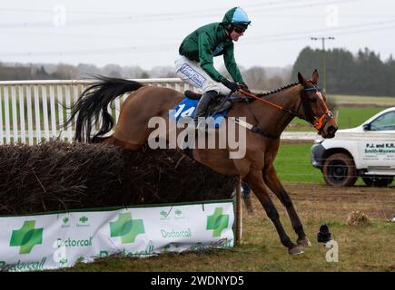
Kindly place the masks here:
[[(307, 97), (307, 93), (306, 92), (317, 92), (317, 95), (319, 97), (319, 100), (322, 102), (325, 112), (321, 115), (321, 117), (316, 117), (312, 114), (311, 112), (311, 106), (308, 105), (309, 102), (309, 98)], [(285, 111), (287, 113), (290, 113), (291, 115), (298, 117), (301, 120), (304, 121), (308, 121), (309, 123), (311, 123), (311, 125), (318, 131), (322, 130), (322, 125), (324, 123), (324, 121), (330, 121), (331, 119), (333, 119), (333, 113), (328, 109), (328, 106), (326, 105), (326, 103), (323, 101), (321, 92), (320, 92), (320, 88), (318, 87), (312, 87), (312, 88), (305, 88), (302, 92), (301, 92), (301, 102), (299, 103), (298, 109), (296, 111), (293, 111), (291, 109), (287, 109), (287, 108), (283, 108), (278, 104), (275, 104), (273, 102), (264, 100), (250, 92), (245, 92), (242, 90), (238, 90), (238, 92), (241, 92), (243, 95), (251, 97), (253, 99), (256, 99), (260, 102), (264, 102), (266, 104), (268, 104), (269, 106), (271, 106), (274, 109), (277, 109), (279, 111)], [(303, 106), (303, 109), (305, 111), (305, 116), (303, 116), (299, 111), (301, 110), (301, 105)], [(309, 113), (308, 113), (309, 112)]]

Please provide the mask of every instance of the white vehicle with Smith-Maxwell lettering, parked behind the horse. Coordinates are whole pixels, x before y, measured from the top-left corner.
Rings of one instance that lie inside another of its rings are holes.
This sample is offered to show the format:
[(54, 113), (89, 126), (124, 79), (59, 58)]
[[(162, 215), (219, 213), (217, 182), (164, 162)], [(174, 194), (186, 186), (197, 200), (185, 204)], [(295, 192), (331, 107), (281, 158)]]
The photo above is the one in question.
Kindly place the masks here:
[(333, 139), (315, 140), (311, 162), (331, 186), (352, 186), (358, 177), (368, 186), (389, 186), (395, 176), (395, 107), (337, 131)]

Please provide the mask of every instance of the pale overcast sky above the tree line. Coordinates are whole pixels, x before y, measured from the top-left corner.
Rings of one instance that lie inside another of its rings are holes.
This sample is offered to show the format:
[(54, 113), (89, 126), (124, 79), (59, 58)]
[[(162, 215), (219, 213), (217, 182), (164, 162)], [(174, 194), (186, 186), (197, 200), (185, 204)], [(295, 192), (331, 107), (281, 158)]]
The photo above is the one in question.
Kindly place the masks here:
[(173, 65), (187, 34), (233, 6), (252, 20), (235, 43), (245, 68), (292, 64), (303, 47), (321, 48), (311, 36), (335, 37), (329, 49), (395, 56), (393, 0), (1, 0), (0, 62)]

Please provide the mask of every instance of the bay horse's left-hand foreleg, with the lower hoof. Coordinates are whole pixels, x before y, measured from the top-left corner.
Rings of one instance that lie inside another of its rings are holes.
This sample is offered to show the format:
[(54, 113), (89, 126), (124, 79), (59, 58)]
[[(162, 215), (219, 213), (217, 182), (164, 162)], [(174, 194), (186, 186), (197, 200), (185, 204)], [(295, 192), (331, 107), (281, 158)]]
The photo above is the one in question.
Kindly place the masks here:
[(281, 225), (279, 213), (274, 207), (272, 199), (269, 197), (269, 194), (265, 188), (262, 179), (262, 172), (260, 170), (251, 170), (250, 173), (243, 178), (243, 181), (247, 182), (253, 193), (261, 201), (262, 207), (265, 209), (266, 214), (272, 220), (274, 227), (276, 227), (276, 230), (280, 236), (281, 244), (284, 247), (288, 247), (288, 253), (291, 255), (303, 253), (301, 248), (293, 244), (290, 237), (288, 237), (285, 233), (285, 230)]

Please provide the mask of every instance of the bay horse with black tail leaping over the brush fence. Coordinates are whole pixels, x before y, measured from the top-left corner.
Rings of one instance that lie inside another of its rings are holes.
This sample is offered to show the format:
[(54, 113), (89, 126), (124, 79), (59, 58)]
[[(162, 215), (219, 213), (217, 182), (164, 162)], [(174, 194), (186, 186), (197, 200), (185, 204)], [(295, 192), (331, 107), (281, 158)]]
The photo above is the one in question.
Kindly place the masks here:
[[(170, 88), (144, 86), (140, 82), (96, 77), (98, 82), (88, 87), (74, 104), (69, 122), (77, 116), (75, 140), (101, 141), (126, 150), (138, 150), (147, 142), (153, 128), (147, 125), (154, 116), (169, 121), (169, 111), (184, 98), (184, 94)], [(313, 125), (321, 137), (332, 138), (338, 129), (321, 95), (317, 70), (311, 80), (298, 73), (298, 81), (281, 89), (252, 95), (244, 102), (232, 102), (229, 117), (246, 117), (252, 130), (246, 131), (246, 154), (241, 159), (230, 159), (231, 149), (193, 149), (194, 160), (223, 175), (239, 175), (260, 200), (267, 216), (272, 220), (281, 244), (290, 255), (303, 253), (301, 247), (311, 247), (304, 233), (301, 220), (293, 207), (288, 192), (282, 187), (273, 166), (280, 145), (281, 132), (296, 116)], [(119, 119), (110, 137), (104, 135), (114, 127), (114, 119), (107, 111), (108, 105), (123, 93), (131, 92), (123, 102)], [(248, 102), (247, 102), (248, 101)], [(91, 137), (92, 122), (101, 118), (101, 126)], [(229, 119), (225, 119), (225, 123)], [(254, 130), (253, 130), (254, 129)], [(217, 130), (218, 131), (218, 130)], [(277, 209), (272, 203), (266, 186), (281, 200), (291, 225), (298, 236), (296, 244), (281, 225)]]

